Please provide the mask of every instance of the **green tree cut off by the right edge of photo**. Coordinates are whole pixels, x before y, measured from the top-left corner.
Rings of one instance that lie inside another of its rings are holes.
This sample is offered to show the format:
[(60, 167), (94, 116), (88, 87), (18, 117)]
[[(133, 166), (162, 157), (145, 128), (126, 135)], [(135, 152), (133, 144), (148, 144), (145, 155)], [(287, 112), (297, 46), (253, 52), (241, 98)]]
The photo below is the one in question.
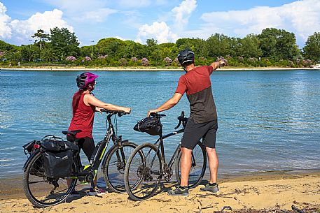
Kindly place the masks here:
[(307, 59), (320, 61), (320, 33), (315, 32), (307, 38), (303, 52)]

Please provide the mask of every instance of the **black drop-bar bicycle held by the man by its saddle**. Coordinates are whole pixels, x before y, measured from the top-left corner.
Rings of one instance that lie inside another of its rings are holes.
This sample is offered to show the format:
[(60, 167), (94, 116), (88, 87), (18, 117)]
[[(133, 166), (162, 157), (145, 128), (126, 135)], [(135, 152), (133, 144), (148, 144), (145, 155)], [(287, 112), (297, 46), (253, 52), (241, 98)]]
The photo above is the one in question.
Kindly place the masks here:
[[(165, 115), (152, 113), (151, 116), (160, 119)], [(188, 119), (184, 117), (184, 112), (178, 117), (179, 128), (181, 123), (183, 128), (167, 135), (160, 134), (159, 139), (154, 143), (144, 143), (134, 149), (130, 155), (127, 166), (125, 166), (125, 189), (132, 200), (144, 200), (151, 198), (160, 186), (163, 179), (169, 182), (173, 176), (172, 166), (175, 164), (176, 180), (180, 184), (181, 180), (181, 145), (176, 147), (172, 158), (167, 164), (165, 161), (165, 148), (163, 141), (172, 135), (183, 133)], [(160, 131), (162, 133), (162, 130)], [(141, 154), (143, 157), (141, 158)], [(198, 186), (204, 176), (207, 166), (207, 152), (202, 142), (197, 142), (192, 152), (192, 165), (188, 179), (188, 187)]]

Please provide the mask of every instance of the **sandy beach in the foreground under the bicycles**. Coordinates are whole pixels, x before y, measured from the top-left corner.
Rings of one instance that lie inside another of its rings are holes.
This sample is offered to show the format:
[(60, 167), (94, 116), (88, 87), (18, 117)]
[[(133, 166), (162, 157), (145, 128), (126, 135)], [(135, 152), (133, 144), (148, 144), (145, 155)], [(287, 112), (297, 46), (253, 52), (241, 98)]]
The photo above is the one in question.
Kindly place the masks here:
[[(12, 183), (19, 183), (14, 180)], [(203, 182), (205, 184), (205, 182)], [(103, 196), (68, 198), (66, 203), (36, 209), (24, 197), (18, 184), (10, 190), (1, 183), (0, 212), (297, 212), (292, 205), (305, 212), (320, 210), (320, 172), (304, 174), (253, 175), (222, 179), (219, 194), (190, 189), (188, 197), (172, 197), (162, 187), (148, 200), (135, 202), (127, 193), (106, 193)], [(165, 185), (167, 186), (167, 185)], [(223, 210), (225, 207), (225, 210)], [(226, 209), (231, 207), (232, 210)], [(223, 210), (223, 211), (221, 211)]]

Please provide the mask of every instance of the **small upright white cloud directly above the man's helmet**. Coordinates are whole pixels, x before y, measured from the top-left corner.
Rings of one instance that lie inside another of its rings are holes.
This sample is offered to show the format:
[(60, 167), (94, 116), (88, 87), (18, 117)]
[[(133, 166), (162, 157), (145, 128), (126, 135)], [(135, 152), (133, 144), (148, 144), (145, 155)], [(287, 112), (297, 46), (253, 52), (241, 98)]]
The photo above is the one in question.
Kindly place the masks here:
[(185, 0), (182, 1), (179, 6), (172, 9), (176, 30), (180, 31), (188, 24), (189, 17), (195, 8), (197, 8), (197, 1)]

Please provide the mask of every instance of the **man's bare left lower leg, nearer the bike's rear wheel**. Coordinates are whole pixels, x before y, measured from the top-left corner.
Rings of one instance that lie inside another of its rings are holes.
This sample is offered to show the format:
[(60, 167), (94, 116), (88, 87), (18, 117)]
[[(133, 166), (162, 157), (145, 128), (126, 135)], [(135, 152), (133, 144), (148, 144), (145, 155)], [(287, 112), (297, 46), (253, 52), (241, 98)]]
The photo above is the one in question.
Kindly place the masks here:
[(181, 183), (180, 186), (188, 186), (189, 172), (191, 169), (191, 154), (193, 150), (181, 147)]

